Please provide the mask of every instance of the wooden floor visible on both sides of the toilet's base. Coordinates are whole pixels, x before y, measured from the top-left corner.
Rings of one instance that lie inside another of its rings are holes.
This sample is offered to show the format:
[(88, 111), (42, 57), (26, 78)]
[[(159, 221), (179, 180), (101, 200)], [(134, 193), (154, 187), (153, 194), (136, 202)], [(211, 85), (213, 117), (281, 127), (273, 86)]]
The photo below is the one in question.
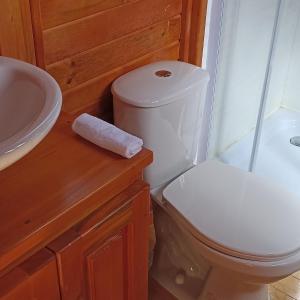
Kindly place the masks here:
[[(271, 300), (300, 300), (300, 271), (270, 285)], [(149, 300), (178, 300), (150, 279)], [(184, 299), (183, 299), (184, 300)]]

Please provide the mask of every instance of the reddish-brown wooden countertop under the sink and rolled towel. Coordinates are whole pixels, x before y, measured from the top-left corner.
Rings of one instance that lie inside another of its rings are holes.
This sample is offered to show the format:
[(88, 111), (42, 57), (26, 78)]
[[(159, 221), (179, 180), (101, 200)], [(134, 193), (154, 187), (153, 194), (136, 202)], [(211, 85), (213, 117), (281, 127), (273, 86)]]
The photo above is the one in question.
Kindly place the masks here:
[(0, 171), (0, 274), (44, 247), (133, 183), (152, 161), (103, 150), (62, 115), (27, 156)]

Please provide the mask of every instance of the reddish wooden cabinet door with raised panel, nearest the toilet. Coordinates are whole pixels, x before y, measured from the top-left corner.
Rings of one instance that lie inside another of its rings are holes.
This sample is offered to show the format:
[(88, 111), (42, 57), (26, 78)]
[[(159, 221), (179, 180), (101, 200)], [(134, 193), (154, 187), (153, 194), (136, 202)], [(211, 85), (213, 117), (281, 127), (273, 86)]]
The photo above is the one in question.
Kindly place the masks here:
[(149, 190), (139, 181), (49, 245), (64, 300), (147, 299)]

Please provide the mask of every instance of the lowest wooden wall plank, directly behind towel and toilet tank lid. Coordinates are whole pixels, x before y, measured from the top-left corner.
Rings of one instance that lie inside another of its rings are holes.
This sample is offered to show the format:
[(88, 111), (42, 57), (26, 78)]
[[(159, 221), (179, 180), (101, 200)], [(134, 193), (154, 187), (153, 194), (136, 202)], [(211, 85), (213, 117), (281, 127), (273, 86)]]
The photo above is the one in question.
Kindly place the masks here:
[(67, 90), (64, 93), (63, 110), (72, 114), (77, 114), (84, 108), (92, 104), (99, 104), (101, 112), (106, 112), (111, 109), (111, 83), (124, 73), (127, 73), (139, 66), (157, 60), (177, 60), (179, 57), (178, 41), (168, 45), (165, 48), (146, 54), (136, 60), (130, 61), (123, 66), (100, 75), (92, 80), (89, 80), (74, 89)]

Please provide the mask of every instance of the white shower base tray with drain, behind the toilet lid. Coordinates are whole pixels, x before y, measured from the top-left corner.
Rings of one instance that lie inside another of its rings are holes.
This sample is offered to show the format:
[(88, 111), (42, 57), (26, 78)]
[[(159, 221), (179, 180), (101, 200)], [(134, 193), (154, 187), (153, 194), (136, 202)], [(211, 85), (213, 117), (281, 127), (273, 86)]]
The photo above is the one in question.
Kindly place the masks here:
[[(300, 112), (280, 108), (263, 124), (254, 172), (300, 196), (300, 147), (290, 138), (300, 136)], [(220, 159), (244, 170), (249, 168), (254, 131), (229, 147)]]

